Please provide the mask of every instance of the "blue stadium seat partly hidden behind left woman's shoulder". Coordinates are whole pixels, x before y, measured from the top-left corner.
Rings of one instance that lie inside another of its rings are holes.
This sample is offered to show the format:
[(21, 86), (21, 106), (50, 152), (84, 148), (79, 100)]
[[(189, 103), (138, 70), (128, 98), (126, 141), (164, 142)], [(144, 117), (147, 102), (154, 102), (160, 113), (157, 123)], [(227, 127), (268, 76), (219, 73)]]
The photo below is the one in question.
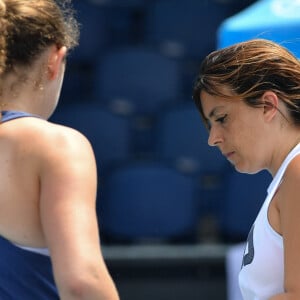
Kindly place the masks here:
[(90, 140), (101, 173), (131, 158), (129, 120), (98, 104), (62, 106), (50, 121), (77, 129)]

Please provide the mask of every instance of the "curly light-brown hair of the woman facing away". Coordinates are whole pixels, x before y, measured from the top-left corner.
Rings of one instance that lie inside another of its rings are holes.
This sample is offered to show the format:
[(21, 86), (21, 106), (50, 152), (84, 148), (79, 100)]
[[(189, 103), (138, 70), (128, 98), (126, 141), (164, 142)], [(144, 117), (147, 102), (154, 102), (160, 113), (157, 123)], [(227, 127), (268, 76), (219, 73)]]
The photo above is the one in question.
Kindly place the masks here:
[(70, 2), (0, 0), (0, 75), (30, 65), (50, 45), (77, 45), (78, 24)]

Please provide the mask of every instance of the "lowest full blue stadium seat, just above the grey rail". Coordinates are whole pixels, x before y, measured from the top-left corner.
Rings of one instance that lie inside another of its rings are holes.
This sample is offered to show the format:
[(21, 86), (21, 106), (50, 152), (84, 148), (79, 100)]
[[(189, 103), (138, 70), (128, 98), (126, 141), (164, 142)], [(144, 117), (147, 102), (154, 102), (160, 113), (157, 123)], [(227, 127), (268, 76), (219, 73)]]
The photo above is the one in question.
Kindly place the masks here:
[(195, 184), (160, 162), (135, 161), (113, 169), (104, 182), (98, 215), (110, 241), (169, 242), (195, 234)]

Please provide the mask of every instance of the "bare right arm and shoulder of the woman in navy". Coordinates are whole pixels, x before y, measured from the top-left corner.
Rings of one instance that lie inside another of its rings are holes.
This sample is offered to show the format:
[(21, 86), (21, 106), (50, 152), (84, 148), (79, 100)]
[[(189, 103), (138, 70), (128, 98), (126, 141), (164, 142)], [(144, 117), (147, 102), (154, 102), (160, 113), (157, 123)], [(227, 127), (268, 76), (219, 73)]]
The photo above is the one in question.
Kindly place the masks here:
[(117, 300), (100, 249), (90, 143), (58, 125), (42, 139), (40, 215), (61, 300)]

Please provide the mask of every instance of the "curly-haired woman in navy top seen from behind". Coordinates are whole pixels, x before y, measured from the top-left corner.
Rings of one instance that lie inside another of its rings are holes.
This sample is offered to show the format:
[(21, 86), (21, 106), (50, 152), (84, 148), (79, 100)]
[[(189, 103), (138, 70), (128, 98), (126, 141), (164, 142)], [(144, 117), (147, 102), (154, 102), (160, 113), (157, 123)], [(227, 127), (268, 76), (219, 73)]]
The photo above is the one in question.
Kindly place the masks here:
[(119, 299), (87, 139), (47, 121), (78, 26), (69, 1), (0, 0), (0, 298)]

